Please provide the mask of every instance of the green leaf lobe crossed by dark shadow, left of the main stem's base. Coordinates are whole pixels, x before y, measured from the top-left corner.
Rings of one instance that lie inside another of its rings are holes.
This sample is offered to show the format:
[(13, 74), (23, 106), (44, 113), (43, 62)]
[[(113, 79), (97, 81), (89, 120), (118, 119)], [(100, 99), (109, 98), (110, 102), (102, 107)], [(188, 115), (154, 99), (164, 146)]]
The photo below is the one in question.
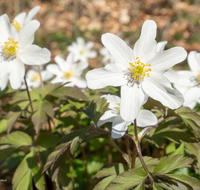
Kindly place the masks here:
[(102, 170), (98, 171), (95, 175), (96, 178), (102, 178), (110, 175), (117, 176), (122, 172), (126, 171), (126, 168), (121, 163), (114, 163), (109, 165), (108, 167), (103, 168)]

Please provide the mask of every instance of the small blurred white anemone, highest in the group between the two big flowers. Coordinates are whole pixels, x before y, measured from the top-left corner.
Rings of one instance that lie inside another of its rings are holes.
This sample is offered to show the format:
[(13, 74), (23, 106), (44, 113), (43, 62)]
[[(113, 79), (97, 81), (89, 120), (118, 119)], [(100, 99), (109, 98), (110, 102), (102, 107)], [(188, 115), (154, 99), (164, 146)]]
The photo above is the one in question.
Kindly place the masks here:
[(68, 46), (67, 50), (70, 53), (74, 54), (74, 61), (84, 61), (87, 62), (88, 58), (95, 58), (97, 52), (91, 50), (94, 46), (94, 42), (87, 42), (82, 37), (78, 37), (76, 42), (73, 42), (72, 45)]

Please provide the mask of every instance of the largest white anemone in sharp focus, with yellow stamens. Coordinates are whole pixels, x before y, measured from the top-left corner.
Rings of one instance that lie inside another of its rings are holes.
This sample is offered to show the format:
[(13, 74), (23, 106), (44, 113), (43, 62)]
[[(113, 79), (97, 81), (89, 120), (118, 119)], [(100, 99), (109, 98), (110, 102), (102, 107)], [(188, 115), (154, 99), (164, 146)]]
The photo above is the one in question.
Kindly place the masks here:
[(121, 86), (120, 114), (126, 121), (136, 118), (146, 95), (171, 109), (176, 109), (183, 103), (182, 94), (172, 88), (163, 73), (183, 61), (187, 53), (182, 47), (156, 52), (156, 29), (154, 21), (145, 21), (141, 36), (133, 49), (118, 36), (104, 34), (102, 43), (115, 63), (86, 74), (87, 84), (91, 89)]

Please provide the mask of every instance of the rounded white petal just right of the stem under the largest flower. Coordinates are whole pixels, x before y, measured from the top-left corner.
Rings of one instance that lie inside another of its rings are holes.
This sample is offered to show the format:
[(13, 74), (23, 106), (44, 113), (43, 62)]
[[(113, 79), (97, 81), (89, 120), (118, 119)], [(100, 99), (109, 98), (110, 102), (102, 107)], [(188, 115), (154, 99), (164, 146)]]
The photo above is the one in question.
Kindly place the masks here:
[(138, 127), (147, 127), (156, 125), (158, 122), (157, 117), (154, 113), (152, 113), (149, 110), (140, 110), (138, 116), (137, 116), (137, 126)]

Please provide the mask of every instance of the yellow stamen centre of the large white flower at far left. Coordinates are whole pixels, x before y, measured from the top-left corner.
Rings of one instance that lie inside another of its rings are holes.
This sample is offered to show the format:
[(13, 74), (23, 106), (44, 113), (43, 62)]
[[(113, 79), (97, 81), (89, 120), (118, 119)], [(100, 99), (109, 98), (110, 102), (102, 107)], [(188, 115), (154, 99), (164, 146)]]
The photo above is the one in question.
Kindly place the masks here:
[(7, 56), (6, 60), (15, 58), (19, 51), (18, 42), (14, 41), (12, 38), (8, 38), (8, 40), (4, 42), (2, 48), (4, 54)]

